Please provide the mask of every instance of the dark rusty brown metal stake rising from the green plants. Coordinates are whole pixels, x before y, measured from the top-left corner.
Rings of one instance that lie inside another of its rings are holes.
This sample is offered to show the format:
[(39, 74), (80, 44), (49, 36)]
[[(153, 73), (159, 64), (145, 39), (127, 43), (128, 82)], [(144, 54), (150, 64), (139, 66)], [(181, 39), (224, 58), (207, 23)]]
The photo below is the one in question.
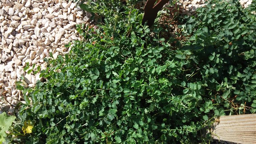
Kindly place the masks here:
[(142, 19), (142, 24), (144, 25), (147, 21), (147, 25), (151, 27), (154, 24), (157, 13), (169, 0), (160, 0), (155, 5), (156, 0), (148, 0), (144, 7), (144, 16)]

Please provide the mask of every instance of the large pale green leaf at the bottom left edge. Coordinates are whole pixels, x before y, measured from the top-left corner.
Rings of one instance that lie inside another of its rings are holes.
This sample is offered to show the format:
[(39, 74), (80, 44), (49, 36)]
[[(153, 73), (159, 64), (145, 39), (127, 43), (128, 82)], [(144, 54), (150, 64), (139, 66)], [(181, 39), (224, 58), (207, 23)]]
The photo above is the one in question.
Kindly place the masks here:
[(5, 112), (0, 114), (0, 144), (5, 142), (5, 137), (7, 136), (5, 131), (8, 131), (15, 118), (15, 116), (8, 116)]

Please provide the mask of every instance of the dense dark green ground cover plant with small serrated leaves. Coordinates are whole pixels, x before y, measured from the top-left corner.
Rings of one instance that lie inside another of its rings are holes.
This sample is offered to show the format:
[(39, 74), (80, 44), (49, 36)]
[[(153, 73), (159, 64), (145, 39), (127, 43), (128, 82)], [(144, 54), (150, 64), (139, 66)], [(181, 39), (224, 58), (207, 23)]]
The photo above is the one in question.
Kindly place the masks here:
[(210, 143), (205, 130), (215, 117), (255, 113), (254, 2), (242, 9), (239, 1), (209, 1), (197, 17), (176, 18), (179, 38), (162, 36), (169, 29), (157, 21), (141, 25), (137, 3), (81, 5), (102, 16), (99, 29), (78, 26), (84, 40), (45, 59), (46, 82), (20, 82), (27, 104), (8, 141)]

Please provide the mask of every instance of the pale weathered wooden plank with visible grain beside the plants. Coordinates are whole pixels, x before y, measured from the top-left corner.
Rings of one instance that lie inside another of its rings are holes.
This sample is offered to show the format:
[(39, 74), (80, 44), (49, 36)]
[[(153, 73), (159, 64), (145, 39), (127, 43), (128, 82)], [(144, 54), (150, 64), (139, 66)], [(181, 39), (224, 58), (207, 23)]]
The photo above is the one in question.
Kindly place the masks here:
[(221, 116), (212, 126), (212, 138), (234, 143), (256, 144), (256, 114)]

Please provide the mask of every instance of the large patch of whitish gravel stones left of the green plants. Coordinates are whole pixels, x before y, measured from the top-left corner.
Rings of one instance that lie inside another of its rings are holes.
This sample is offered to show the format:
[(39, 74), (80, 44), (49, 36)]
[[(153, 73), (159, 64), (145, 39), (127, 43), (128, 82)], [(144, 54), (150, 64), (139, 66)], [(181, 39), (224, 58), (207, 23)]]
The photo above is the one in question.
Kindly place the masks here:
[[(26, 85), (34, 87), (39, 74), (28, 74), (23, 68), (46, 68), (43, 58), (50, 52), (68, 52), (71, 40), (80, 40), (76, 24), (90, 16), (76, 4), (65, 0), (0, 0), (0, 113), (14, 113), (18, 101), (23, 102), (16, 82), (24, 76)], [(2, 92), (7, 91), (6, 96)]]

